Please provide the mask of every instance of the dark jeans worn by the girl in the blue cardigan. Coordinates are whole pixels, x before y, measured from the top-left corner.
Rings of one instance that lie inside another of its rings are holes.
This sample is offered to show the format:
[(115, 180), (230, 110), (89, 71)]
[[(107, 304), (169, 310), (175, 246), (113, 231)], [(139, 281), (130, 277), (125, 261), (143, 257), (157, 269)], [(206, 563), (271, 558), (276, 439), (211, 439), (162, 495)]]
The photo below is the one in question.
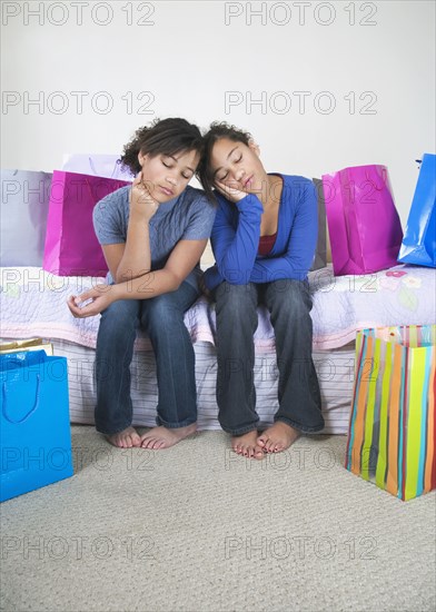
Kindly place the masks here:
[(257, 428), (254, 384), (257, 305), (265, 304), (276, 337), (279, 408), (283, 421), (300, 432), (324, 427), (317, 374), (311, 358), (311, 297), (307, 282), (221, 283), (217, 302), (217, 403), (225, 432), (241, 435)]

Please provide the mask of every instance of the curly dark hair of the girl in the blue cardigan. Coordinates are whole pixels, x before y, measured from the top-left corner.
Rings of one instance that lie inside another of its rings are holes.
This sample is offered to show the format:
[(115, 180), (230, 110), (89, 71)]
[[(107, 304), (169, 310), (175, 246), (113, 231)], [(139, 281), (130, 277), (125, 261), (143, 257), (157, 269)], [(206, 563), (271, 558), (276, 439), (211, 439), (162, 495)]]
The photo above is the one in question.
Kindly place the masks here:
[(214, 121), (210, 124), (209, 131), (204, 136), (204, 154), (198, 165), (196, 176), (201, 182), (207, 197), (214, 203), (216, 203), (216, 197), (214, 194), (214, 172), (210, 167), (210, 156), (214, 145), (221, 138), (228, 138), (234, 142), (244, 142), (244, 145), (248, 146), (251, 140), (251, 135), (236, 126), (230, 126), (226, 121)]

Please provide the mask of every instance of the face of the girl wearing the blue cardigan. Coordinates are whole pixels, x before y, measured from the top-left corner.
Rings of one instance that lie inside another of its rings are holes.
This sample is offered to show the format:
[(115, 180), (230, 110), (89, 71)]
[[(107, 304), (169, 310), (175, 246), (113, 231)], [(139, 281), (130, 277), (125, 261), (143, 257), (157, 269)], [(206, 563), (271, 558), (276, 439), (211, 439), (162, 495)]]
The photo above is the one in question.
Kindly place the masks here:
[(220, 138), (210, 155), (214, 182), (246, 194), (259, 194), (268, 182), (265, 168), (259, 159), (259, 148), (252, 141)]

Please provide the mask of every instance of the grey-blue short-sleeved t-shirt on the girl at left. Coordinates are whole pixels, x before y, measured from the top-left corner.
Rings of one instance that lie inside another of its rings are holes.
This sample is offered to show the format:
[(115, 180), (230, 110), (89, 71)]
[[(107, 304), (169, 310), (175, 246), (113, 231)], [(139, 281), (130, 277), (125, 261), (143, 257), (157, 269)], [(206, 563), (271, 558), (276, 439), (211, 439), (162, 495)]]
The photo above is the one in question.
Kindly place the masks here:
[[(126, 243), (129, 223), (130, 185), (121, 187), (101, 199), (93, 208), (93, 228), (100, 245)], [(201, 189), (186, 187), (178, 196), (159, 205), (149, 221), (151, 269), (165, 267), (171, 250), (179, 240), (209, 238), (215, 219), (215, 208)], [(188, 275), (187, 282), (197, 288), (200, 267)], [(108, 282), (112, 283), (110, 273)]]

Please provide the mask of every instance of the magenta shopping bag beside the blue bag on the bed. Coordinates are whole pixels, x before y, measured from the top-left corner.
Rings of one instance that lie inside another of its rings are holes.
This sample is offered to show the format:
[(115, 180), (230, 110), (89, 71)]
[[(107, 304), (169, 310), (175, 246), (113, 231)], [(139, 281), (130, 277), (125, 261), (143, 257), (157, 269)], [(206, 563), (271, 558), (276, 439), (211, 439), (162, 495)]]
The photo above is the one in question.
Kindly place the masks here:
[(402, 224), (385, 166), (356, 166), (323, 175), (336, 276), (368, 274), (397, 264)]

